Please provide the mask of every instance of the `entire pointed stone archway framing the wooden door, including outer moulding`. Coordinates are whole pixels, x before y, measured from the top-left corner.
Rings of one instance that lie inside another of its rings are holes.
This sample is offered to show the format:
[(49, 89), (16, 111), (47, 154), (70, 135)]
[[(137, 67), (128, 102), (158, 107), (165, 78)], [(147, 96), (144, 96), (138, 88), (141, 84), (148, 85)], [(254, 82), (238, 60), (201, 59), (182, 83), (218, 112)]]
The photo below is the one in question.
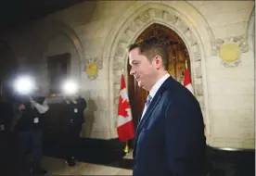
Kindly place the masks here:
[[(164, 5), (163, 5), (164, 4)], [(183, 12), (183, 13), (181, 13)], [(184, 13), (184, 12), (189, 12)], [(109, 127), (111, 136), (116, 136), (115, 121), (120, 91), (122, 69), (126, 69), (128, 44), (134, 43), (138, 35), (153, 23), (175, 31), (185, 42), (191, 59), (191, 77), (195, 94), (204, 114), (206, 135), (210, 136), (208, 92), (205, 59), (211, 57), (210, 27), (198, 11), (186, 2), (166, 1), (148, 3), (136, 2), (123, 14), (120, 21), (109, 33), (109, 44), (103, 57), (109, 62)], [(106, 62), (107, 62), (106, 61)], [(126, 71), (124, 71), (126, 72)], [(127, 75), (125, 75), (127, 77)], [(113, 118), (110, 118), (113, 117)]]

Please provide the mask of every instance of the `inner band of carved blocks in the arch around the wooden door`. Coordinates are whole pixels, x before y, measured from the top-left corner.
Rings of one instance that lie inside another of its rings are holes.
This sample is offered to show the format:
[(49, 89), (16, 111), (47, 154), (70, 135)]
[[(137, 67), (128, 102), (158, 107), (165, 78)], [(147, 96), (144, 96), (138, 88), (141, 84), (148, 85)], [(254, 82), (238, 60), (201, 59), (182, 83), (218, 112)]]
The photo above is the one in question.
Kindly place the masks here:
[[(194, 32), (188, 27), (185, 21), (178, 18), (180, 17), (174, 10), (162, 10), (155, 8), (147, 8), (147, 10), (142, 11), (134, 19), (131, 19), (130, 24), (127, 24), (125, 29), (122, 29), (119, 33), (119, 37), (116, 39), (116, 46), (114, 48), (114, 60), (113, 60), (113, 69), (114, 69), (114, 86), (117, 84), (120, 85), (120, 75), (118, 72), (126, 67), (125, 60), (127, 59), (126, 47), (131, 43), (131, 39), (134, 39), (135, 36), (141, 32), (142, 26), (147, 26), (145, 24), (150, 24), (152, 21), (162, 21), (167, 26), (172, 27), (175, 31), (178, 31), (182, 38), (185, 40), (188, 48), (190, 48), (190, 58), (191, 63), (194, 66), (192, 70), (191, 77), (195, 85), (195, 95), (199, 98), (199, 103), (204, 104), (204, 94), (203, 94), (203, 84), (202, 84), (202, 72), (201, 72), (201, 52), (199, 49), (200, 42), (195, 36)], [(217, 41), (218, 42), (218, 41)], [(219, 48), (217, 48), (219, 49)], [(217, 50), (216, 49), (216, 50)], [(114, 89), (114, 98), (118, 98), (119, 89)], [(204, 107), (204, 105), (201, 105)]]

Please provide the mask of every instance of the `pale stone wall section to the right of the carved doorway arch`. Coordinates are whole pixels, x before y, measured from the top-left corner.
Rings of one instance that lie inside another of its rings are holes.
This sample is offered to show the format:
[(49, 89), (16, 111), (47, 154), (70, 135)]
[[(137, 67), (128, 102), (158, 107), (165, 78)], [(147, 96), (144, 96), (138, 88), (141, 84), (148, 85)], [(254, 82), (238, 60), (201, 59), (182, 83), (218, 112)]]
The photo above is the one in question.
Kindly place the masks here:
[[(253, 148), (254, 31), (249, 30), (254, 26), (253, 2), (194, 3), (207, 19), (215, 38), (211, 42), (212, 55), (206, 61), (211, 117), (210, 144), (223, 148), (227, 145)], [(237, 65), (225, 66), (220, 60), (219, 47), (229, 42), (240, 46), (241, 54)]]

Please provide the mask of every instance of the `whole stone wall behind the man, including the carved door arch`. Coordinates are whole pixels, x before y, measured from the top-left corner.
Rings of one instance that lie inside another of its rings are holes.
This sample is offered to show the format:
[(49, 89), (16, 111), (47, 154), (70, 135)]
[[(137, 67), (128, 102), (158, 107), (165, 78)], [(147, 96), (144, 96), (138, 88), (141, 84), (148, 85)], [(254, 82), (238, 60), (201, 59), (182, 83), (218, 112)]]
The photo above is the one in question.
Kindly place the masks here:
[[(72, 75), (88, 101), (82, 135), (110, 139), (117, 137), (124, 48), (154, 22), (176, 31), (188, 48), (208, 144), (254, 148), (253, 1), (89, 1), (2, 33), (1, 39), (19, 69), (37, 68), (44, 81), (45, 57), (70, 52)], [(230, 42), (240, 54), (226, 63), (219, 53)], [(86, 73), (90, 64), (98, 69), (95, 76)]]

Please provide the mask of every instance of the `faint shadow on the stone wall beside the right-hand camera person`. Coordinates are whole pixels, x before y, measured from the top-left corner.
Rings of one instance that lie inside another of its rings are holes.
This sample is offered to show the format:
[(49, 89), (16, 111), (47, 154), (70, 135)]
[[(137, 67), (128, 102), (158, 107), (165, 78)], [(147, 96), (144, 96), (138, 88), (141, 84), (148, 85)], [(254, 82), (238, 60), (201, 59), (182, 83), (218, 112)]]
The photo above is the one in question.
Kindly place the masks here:
[(84, 124), (82, 136), (83, 138), (88, 138), (91, 136), (91, 132), (93, 131), (93, 125), (95, 122), (95, 112), (97, 110), (96, 102), (92, 99), (86, 100), (87, 107), (85, 108), (84, 114)]

